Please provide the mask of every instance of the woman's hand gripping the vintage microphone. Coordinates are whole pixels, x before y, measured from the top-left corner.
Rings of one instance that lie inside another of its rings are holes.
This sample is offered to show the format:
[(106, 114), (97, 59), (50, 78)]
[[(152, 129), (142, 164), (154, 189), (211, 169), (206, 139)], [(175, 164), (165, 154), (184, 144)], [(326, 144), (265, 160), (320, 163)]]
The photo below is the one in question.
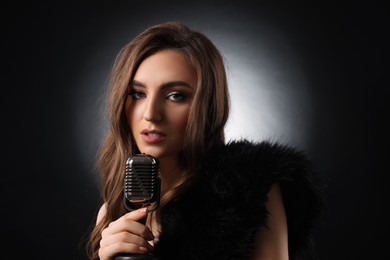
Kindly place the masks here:
[(153, 233), (138, 221), (148, 215), (147, 208), (129, 212), (111, 222), (102, 231), (99, 258), (112, 259), (119, 253), (145, 254), (153, 251), (148, 241), (153, 240)]

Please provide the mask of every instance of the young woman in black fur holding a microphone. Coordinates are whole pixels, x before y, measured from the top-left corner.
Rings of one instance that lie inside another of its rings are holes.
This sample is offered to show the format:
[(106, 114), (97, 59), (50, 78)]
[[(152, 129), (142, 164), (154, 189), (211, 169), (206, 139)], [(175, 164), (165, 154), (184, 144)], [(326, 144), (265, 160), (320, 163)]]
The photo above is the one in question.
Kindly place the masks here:
[[(98, 160), (103, 204), (90, 259), (315, 258), (318, 176), (293, 147), (225, 142), (225, 67), (204, 34), (177, 22), (146, 29), (120, 51), (108, 94), (110, 129)], [(138, 153), (160, 162), (153, 212), (127, 212), (123, 203), (125, 163)]]

